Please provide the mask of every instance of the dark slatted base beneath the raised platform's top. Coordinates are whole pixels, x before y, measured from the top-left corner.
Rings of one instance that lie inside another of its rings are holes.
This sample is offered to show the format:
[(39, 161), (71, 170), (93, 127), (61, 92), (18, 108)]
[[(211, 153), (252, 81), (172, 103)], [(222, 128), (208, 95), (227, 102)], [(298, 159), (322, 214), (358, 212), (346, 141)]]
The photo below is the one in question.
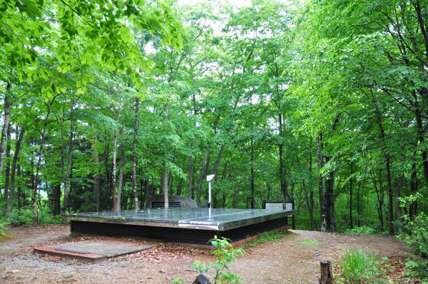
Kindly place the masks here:
[(72, 234), (131, 236), (165, 240), (171, 243), (191, 243), (207, 245), (208, 241), (217, 235), (232, 242), (243, 240), (267, 230), (287, 228), (287, 217), (267, 220), (261, 223), (246, 225), (230, 230), (200, 230), (191, 228), (170, 228), (148, 225), (128, 225), (121, 223), (98, 223), (80, 220), (71, 220)]

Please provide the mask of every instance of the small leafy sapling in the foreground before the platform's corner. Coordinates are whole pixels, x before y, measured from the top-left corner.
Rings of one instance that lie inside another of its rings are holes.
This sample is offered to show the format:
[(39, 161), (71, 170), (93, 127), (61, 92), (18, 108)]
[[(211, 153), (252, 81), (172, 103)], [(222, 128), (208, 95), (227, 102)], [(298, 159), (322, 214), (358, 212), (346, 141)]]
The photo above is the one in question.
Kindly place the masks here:
[(208, 273), (210, 270), (215, 271), (213, 277), (214, 284), (238, 284), (242, 282), (242, 278), (239, 275), (229, 270), (230, 263), (234, 262), (239, 255), (245, 253), (243, 248), (233, 248), (230, 244), (230, 240), (227, 238), (217, 238), (215, 235), (210, 244), (214, 246), (215, 250), (213, 255), (217, 259), (215, 263), (204, 264), (200, 260), (196, 260), (192, 264), (198, 273)]

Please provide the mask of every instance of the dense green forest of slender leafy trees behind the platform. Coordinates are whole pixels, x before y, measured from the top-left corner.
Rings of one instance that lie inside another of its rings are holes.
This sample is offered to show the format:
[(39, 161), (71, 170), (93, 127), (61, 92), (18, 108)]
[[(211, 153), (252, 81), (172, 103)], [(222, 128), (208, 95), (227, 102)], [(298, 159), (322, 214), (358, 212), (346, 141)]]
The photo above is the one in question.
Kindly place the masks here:
[(297, 228), (427, 234), (426, 0), (0, 11), (4, 222), (201, 204), (215, 174), (214, 208), (294, 201)]

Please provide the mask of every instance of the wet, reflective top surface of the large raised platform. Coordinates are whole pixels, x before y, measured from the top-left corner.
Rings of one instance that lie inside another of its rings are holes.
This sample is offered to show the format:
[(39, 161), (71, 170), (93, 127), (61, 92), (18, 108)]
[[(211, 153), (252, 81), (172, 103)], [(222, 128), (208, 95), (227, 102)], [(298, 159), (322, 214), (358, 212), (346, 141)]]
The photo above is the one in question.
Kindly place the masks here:
[(208, 208), (168, 208), (148, 209), (140, 211), (103, 211), (68, 214), (71, 220), (99, 220), (108, 223), (133, 221), (141, 225), (149, 223), (175, 223), (182, 227), (186, 225), (213, 226), (213, 229), (226, 230), (265, 220), (284, 218), (292, 211), (265, 210), (265, 209), (211, 209), (211, 218), (208, 218)]

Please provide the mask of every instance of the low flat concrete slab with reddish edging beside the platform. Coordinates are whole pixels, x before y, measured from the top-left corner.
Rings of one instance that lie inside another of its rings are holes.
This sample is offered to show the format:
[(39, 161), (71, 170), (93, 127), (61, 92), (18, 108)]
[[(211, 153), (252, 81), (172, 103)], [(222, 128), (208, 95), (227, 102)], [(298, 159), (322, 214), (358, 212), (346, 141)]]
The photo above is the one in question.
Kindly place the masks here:
[(39, 253), (96, 261), (128, 253), (136, 253), (152, 248), (153, 246), (154, 244), (152, 243), (136, 245), (126, 240), (81, 240), (74, 243), (38, 247), (34, 248), (34, 250)]

